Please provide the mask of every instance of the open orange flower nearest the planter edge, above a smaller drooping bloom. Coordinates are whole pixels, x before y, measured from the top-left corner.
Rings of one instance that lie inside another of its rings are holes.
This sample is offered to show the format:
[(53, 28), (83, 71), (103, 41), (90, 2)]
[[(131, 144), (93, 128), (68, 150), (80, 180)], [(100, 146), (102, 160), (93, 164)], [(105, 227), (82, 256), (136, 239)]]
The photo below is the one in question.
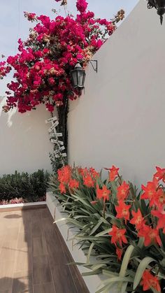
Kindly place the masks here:
[(119, 229), (115, 225), (113, 225), (113, 229), (108, 233), (111, 238), (111, 243), (120, 245), (120, 248), (122, 248), (122, 242), (123, 243), (128, 243), (127, 238), (125, 236), (126, 229)]

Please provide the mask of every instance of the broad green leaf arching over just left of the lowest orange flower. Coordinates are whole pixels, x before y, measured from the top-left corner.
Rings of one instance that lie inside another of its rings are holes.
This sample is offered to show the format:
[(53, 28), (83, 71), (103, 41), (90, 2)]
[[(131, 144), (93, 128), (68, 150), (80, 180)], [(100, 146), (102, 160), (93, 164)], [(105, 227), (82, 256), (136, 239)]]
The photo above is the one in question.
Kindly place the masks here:
[(153, 259), (152, 257), (145, 257), (140, 264), (138, 265), (138, 269), (136, 271), (136, 275), (134, 278), (134, 286), (133, 289), (135, 290), (136, 287), (138, 286), (138, 284), (141, 281), (141, 278), (143, 276), (143, 272), (145, 271), (145, 269), (148, 267), (148, 264), (150, 264), (150, 262), (156, 262), (155, 259)]

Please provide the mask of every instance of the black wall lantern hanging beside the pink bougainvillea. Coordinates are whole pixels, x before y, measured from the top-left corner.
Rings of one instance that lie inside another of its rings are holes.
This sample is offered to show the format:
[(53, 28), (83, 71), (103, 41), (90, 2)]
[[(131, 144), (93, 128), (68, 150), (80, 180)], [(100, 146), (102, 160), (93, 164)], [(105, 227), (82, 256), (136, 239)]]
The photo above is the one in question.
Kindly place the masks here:
[(71, 71), (71, 80), (73, 87), (81, 90), (84, 88), (85, 83), (85, 70), (82, 69), (80, 63), (77, 63), (75, 68)]

